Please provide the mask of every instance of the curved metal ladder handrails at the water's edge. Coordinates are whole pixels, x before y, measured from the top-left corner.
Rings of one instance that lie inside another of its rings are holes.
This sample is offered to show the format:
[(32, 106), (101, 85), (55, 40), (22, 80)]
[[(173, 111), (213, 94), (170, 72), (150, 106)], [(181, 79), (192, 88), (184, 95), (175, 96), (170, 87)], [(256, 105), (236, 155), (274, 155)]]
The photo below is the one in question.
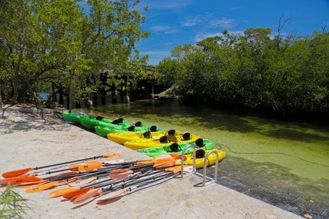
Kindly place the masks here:
[[(217, 177), (218, 177), (218, 154), (215, 150), (211, 150), (210, 152), (208, 152), (206, 154), (206, 156), (204, 156), (204, 163), (203, 163), (203, 173), (200, 174), (199, 172), (196, 172), (196, 169), (195, 169), (195, 146), (194, 145), (188, 145), (186, 147), (184, 147), (183, 151), (182, 151), (182, 156), (181, 156), (181, 160), (182, 160), (182, 165), (181, 165), (181, 168), (182, 168), (182, 171), (181, 171), (181, 178), (184, 178), (184, 154), (186, 153), (186, 150), (188, 148), (192, 147), (193, 148), (193, 172), (191, 172), (189, 175), (191, 174), (195, 174), (199, 177), (202, 177), (202, 186), (207, 186), (215, 181), (217, 181)], [(214, 178), (211, 178), (211, 177), (207, 177), (207, 162), (208, 162), (208, 157), (210, 154), (215, 154), (216, 156), (216, 163), (215, 163), (215, 174), (214, 174)], [(206, 179), (208, 179), (208, 181), (206, 182)]]

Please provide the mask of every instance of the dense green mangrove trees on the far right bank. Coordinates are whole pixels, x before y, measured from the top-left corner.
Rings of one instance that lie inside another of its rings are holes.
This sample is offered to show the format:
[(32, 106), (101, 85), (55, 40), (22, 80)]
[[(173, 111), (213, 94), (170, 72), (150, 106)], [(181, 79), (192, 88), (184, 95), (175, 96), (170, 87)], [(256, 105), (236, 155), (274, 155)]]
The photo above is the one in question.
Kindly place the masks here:
[(159, 83), (203, 103), (328, 112), (329, 33), (271, 36), (271, 29), (224, 31), (175, 47), (157, 66)]

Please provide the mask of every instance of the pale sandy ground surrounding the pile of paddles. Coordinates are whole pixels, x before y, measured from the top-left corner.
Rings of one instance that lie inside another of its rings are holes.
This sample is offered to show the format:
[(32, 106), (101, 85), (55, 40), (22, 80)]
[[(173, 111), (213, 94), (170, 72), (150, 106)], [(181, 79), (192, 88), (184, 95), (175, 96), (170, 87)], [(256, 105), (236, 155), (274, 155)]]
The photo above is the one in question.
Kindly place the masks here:
[[(148, 158), (58, 117), (16, 112), (0, 114), (0, 149), (0, 172), (114, 152), (125, 161)], [(30, 218), (300, 218), (219, 184), (195, 187), (200, 181), (171, 179), (104, 206), (49, 199), (47, 190), (19, 193), (29, 199)]]

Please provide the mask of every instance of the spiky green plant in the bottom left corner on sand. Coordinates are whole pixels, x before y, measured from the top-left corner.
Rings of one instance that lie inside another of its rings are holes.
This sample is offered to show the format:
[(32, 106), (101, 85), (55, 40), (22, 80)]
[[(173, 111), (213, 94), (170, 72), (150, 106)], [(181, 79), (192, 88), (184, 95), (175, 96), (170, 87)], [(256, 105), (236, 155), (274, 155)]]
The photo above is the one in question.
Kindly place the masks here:
[(13, 186), (7, 186), (0, 195), (0, 218), (26, 218), (26, 201)]

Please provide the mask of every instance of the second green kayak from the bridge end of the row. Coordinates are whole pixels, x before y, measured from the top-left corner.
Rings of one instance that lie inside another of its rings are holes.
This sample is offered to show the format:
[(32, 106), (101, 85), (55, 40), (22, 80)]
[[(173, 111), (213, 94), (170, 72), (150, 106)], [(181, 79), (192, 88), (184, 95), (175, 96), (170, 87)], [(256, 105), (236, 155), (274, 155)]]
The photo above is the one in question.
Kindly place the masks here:
[[(80, 124), (85, 127), (86, 129), (94, 129), (95, 126), (99, 125), (100, 122), (106, 123), (106, 124), (115, 124), (120, 125), (123, 127), (130, 127), (133, 125), (131, 122), (124, 121), (122, 118), (119, 118), (118, 120), (110, 120), (106, 119), (102, 116), (97, 117), (88, 117), (88, 116), (80, 116), (79, 117)], [(137, 122), (136, 122), (137, 124)]]

